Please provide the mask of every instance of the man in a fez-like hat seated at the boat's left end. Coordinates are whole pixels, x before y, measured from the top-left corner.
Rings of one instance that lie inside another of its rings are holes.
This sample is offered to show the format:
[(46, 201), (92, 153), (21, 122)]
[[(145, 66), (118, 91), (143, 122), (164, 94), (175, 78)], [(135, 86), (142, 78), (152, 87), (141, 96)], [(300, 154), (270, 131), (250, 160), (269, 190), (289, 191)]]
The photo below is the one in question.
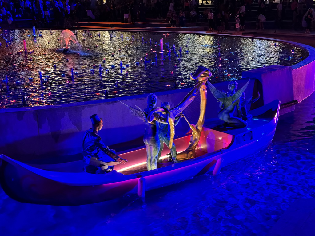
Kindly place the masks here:
[[(91, 115), (90, 119), (92, 121), (92, 128), (84, 133), (82, 149), (84, 161), (87, 165), (102, 167), (105, 166), (107, 162), (113, 160), (119, 161), (121, 164), (125, 164), (127, 160), (116, 155), (114, 149), (109, 149), (103, 143), (100, 136), (97, 134), (103, 127), (103, 121), (96, 114)], [(112, 170), (113, 166), (109, 166), (107, 171)], [(86, 170), (86, 169), (85, 169)]]

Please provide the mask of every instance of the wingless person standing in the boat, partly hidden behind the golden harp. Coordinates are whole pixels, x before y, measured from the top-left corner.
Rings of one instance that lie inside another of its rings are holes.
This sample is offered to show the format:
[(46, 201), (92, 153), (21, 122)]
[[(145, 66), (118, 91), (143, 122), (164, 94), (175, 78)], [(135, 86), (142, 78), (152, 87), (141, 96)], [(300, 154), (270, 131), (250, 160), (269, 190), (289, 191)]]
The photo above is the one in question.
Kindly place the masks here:
[[(162, 107), (165, 107), (167, 110), (170, 109), (170, 105), (168, 102), (164, 102), (162, 104)], [(183, 114), (180, 114), (179, 117), (176, 117), (175, 120), (175, 126), (178, 124), (180, 121), (180, 118), (183, 116)], [(157, 159), (161, 157), (161, 153), (163, 151), (163, 144), (166, 143), (167, 146), (169, 146), (169, 140), (170, 140), (170, 130), (169, 130), (169, 124), (164, 124), (164, 123), (159, 123), (159, 138), (160, 138), (160, 150), (157, 155)], [(173, 161), (174, 163), (179, 163), (180, 161), (177, 160), (176, 155), (176, 147), (175, 144), (173, 143), (172, 148), (171, 148), (171, 159), (168, 157), (168, 161)], [(169, 154), (168, 154), (169, 155)]]

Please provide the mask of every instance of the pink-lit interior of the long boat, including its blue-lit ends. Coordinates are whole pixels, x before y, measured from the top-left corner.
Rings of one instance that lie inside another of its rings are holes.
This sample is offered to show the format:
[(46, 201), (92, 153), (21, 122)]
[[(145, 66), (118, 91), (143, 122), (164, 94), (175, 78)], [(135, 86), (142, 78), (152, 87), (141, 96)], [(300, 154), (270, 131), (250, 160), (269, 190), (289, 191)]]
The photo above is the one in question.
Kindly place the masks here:
[[(200, 140), (196, 147), (196, 155), (194, 158), (205, 155), (207, 153), (213, 153), (220, 149), (226, 149), (230, 144), (233, 143), (234, 138), (238, 134), (248, 133), (248, 139), (252, 139), (252, 132), (250, 130), (255, 129), (255, 127), (262, 126), (266, 124), (271, 119), (274, 119), (277, 113), (278, 106), (261, 107), (251, 111), (254, 115), (253, 119), (248, 122), (248, 126), (242, 129), (235, 128), (225, 128), (222, 126), (223, 121), (216, 119), (209, 119), (204, 122), (203, 131), (201, 133)], [(177, 138), (174, 140), (176, 145), (176, 150), (178, 152), (177, 158), (181, 161), (186, 161), (181, 158), (180, 153), (186, 150), (189, 145), (191, 135), (185, 137)], [(246, 138), (245, 138), (246, 139)], [(238, 140), (236, 140), (238, 142)], [(167, 154), (169, 154), (169, 149), (164, 143), (162, 155), (160, 161), (157, 164), (157, 168), (162, 168), (164, 166), (173, 165), (173, 162), (167, 160)], [(118, 153), (120, 157), (128, 160), (124, 165), (114, 166), (114, 170), (120, 172), (124, 175), (134, 174), (146, 171), (146, 149), (145, 147), (125, 151), (123, 153)], [(162, 160), (162, 161), (161, 161)], [(61, 164), (53, 165), (34, 165), (31, 166), (59, 172), (82, 172), (84, 163), (83, 161), (74, 161)]]

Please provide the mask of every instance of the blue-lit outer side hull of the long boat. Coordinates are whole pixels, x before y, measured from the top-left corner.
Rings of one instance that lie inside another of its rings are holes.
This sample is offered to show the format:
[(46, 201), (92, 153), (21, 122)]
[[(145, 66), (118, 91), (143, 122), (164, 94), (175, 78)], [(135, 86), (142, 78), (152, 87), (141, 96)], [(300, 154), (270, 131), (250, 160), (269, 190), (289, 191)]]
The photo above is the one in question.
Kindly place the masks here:
[[(206, 139), (211, 135), (215, 136), (215, 130), (205, 127), (202, 134), (204, 139), (201, 139), (199, 147), (205, 154), (181, 163), (128, 175), (116, 171), (93, 175), (84, 172), (65, 173), (39, 170), (1, 155), (0, 183), (6, 194), (20, 202), (46, 205), (84, 205), (115, 199), (127, 194), (136, 194), (140, 177), (145, 179), (143, 187), (148, 191), (210, 171), (216, 174), (221, 167), (263, 150), (272, 141), (280, 103), (274, 101), (267, 105), (269, 107), (265, 107), (265, 110), (259, 108), (261, 111), (257, 112), (261, 112), (260, 114), (269, 112), (268, 121), (261, 126), (244, 128), (241, 132), (229, 134), (231, 142), (225, 148), (210, 153), (206, 152), (210, 148), (209, 145), (207, 146)], [(135, 152), (124, 155), (135, 155)]]

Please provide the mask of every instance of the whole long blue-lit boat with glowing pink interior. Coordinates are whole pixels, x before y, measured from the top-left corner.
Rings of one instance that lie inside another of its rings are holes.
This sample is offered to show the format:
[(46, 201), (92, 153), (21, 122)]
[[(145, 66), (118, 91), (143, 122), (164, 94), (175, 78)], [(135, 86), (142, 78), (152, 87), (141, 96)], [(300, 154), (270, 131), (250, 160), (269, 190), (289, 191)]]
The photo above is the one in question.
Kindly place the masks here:
[[(20, 202), (49, 205), (83, 205), (136, 194), (174, 184), (212, 171), (264, 149), (275, 133), (280, 102), (275, 100), (249, 111), (253, 119), (246, 128), (216, 128), (218, 121), (205, 121), (196, 155), (174, 164), (168, 162), (164, 147), (163, 162), (146, 171), (146, 149), (119, 154), (129, 160), (107, 174), (83, 172), (83, 161), (54, 165), (30, 165), (1, 155), (0, 182), (11, 198)], [(174, 140), (177, 151), (187, 147), (190, 136)], [(165, 144), (164, 144), (165, 145)], [(223, 161), (224, 160), (224, 161)]]

